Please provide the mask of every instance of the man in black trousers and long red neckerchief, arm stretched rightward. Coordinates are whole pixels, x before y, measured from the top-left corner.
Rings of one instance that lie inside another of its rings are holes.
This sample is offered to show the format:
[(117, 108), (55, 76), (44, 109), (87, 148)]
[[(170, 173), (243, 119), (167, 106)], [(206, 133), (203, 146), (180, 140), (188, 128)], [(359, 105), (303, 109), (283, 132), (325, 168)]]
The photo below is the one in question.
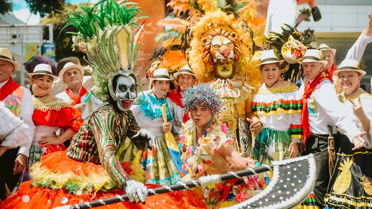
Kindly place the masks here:
[[(328, 125), (337, 126), (355, 145), (363, 147), (363, 136), (350, 116), (343, 113), (341, 103), (332, 84), (332, 75), (324, 70), (327, 61), (317, 49), (309, 49), (301, 63), (304, 68), (306, 84), (302, 98), (302, 126), (305, 151), (303, 155), (313, 154), (317, 165), (317, 180), (314, 194), (319, 207), (323, 208), (324, 196), (329, 182), (328, 173)], [(336, 131), (336, 128), (333, 128)], [(334, 133), (336, 134), (336, 133)], [(333, 145), (331, 145), (333, 146)]]

